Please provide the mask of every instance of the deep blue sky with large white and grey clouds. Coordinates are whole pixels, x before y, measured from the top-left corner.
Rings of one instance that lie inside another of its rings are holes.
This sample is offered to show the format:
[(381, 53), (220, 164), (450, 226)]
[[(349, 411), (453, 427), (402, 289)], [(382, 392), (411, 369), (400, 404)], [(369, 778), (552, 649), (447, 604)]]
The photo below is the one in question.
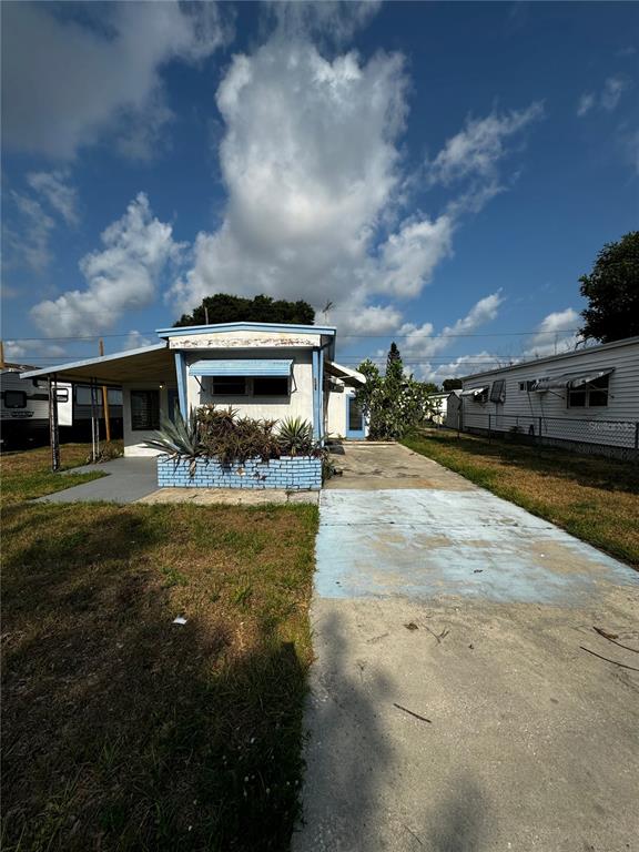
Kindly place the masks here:
[(638, 32), (615, 2), (3, 3), (7, 357), (144, 345), (215, 292), (436, 381), (574, 346), (637, 227)]

